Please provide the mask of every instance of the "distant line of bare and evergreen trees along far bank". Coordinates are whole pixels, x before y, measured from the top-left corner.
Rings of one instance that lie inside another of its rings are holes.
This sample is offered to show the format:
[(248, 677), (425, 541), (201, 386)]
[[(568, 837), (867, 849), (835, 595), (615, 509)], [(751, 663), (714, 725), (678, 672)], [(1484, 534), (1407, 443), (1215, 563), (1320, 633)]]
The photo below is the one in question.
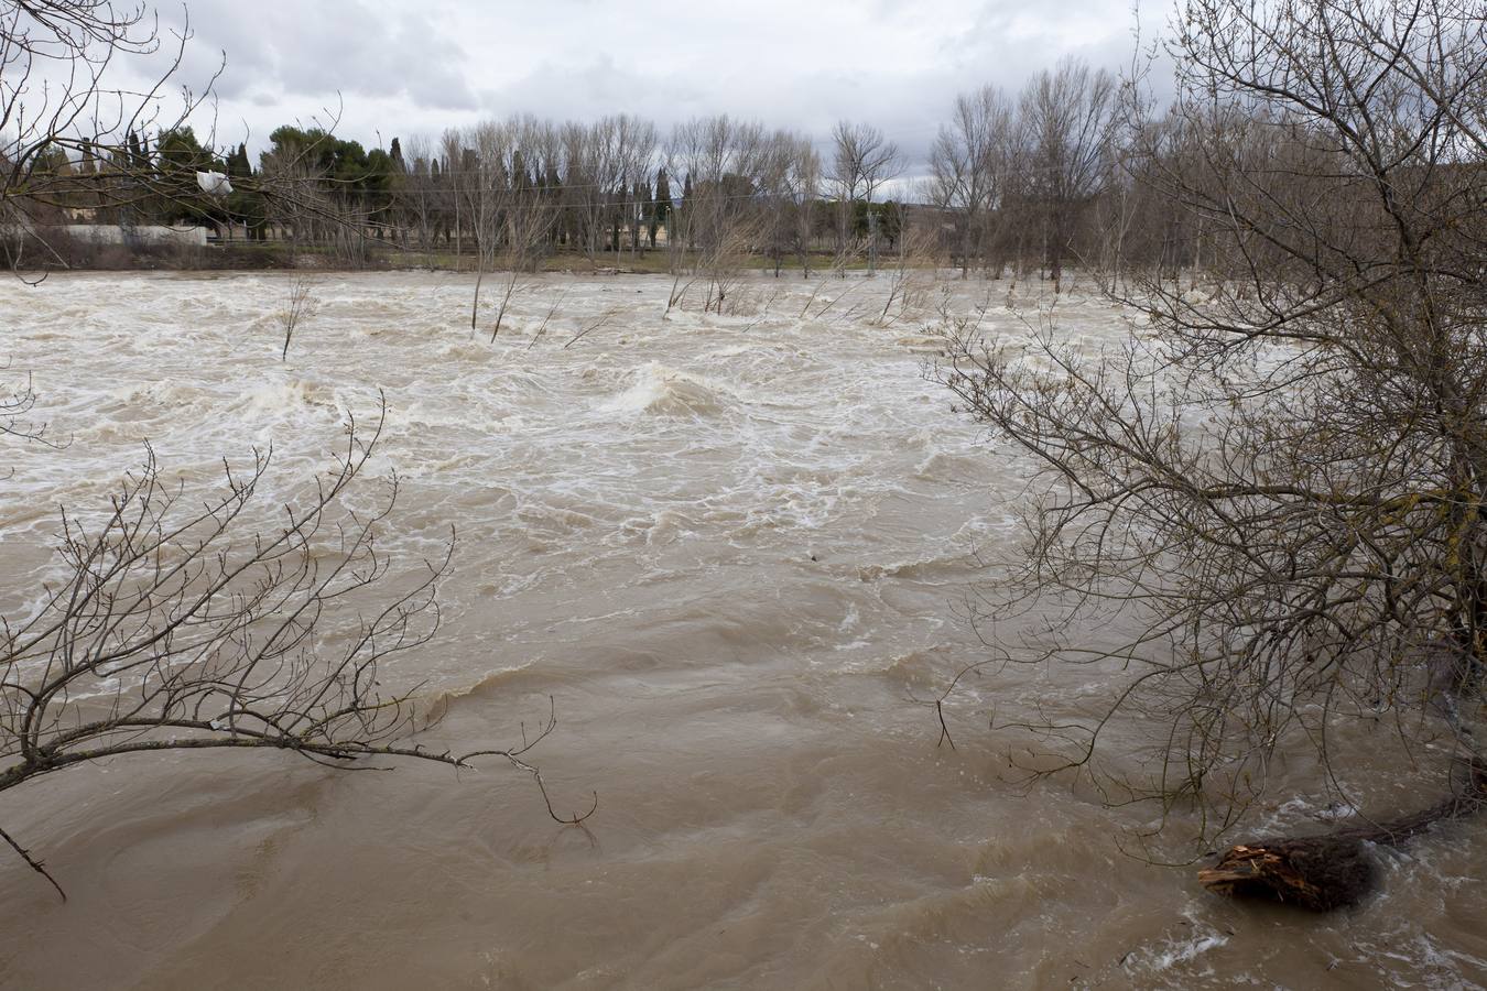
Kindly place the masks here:
[[(1065, 59), (1017, 94), (983, 86), (956, 97), (917, 177), (861, 122), (839, 123), (818, 150), (799, 132), (729, 116), (663, 137), (622, 113), (516, 116), (387, 149), (286, 125), (257, 166), (242, 144), (216, 152), (174, 126), (131, 132), (109, 155), (57, 147), (37, 159), (33, 183), (103, 223), (205, 223), (329, 248), (352, 264), (379, 247), (480, 270), (665, 250), (674, 267), (748, 254), (776, 273), (794, 263), (809, 275), (876, 264), (879, 253), (901, 253), (913, 227), (916, 248), (965, 275), (1036, 270), (1059, 285), (1068, 266), (1172, 276), (1212, 263), (1201, 211), (1152, 190), (1172, 177), (1199, 181), (1206, 134), (1240, 126), (1135, 107), (1111, 71)], [(1307, 137), (1294, 140), (1291, 152), (1257, 153), (1300, 155)], [(202, 196), (198, 171), (226, 174), (235, 192)], [(149, 195), (128, 195), (129, 184)]]

